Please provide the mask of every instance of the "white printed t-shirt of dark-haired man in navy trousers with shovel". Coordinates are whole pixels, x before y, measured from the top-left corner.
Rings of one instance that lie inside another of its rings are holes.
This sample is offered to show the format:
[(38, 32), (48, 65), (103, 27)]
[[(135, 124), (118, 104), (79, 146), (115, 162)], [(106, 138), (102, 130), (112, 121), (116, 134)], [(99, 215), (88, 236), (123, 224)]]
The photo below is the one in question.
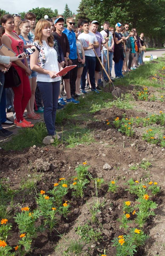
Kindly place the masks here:
[[(94, 43), (94, 42), (98, 41), (96, 36), (93, 33), (91, 33), (91, 32), (89, 32), (88, 34), (85, 34), (84, 32), (81, 33), (78, 36), (78, 39), (81, 39), (83, 47), (88, 47), (89, 43)], [(88, 49), (88, 50), (84, 50), (84, 51), (85, 51), (85, 55), (86, 56), (95, 57), (95, 53), (94, 53), (94, 51), (92, 49)]]

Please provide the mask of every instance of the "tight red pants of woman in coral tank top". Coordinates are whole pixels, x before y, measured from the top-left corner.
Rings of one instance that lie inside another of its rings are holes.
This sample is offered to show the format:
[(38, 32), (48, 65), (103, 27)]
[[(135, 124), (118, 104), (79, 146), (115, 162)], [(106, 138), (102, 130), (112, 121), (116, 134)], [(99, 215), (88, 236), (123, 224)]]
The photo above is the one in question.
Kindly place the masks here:
[(18, 87), (12, 87), (14, 91), (14, 109), (17, 122), (23, 121), (23, 113), (31, 98), (31, 89), (29, 78), (26, 76), (24, 69), (19, 66), (14, 66), (21, 79), (21, 84)]

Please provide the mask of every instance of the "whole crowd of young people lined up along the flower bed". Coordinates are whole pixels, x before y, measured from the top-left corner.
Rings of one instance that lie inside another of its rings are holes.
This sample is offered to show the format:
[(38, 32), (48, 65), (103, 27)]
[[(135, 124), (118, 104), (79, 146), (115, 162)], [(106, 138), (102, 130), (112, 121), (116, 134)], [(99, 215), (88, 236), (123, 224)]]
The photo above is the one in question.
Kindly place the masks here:
[[(96, 94), (101, 90), (101, 79), (108, 81), (96, 55), (107, 73), (109, 71), (112, 81), (142, 65), (144, 34), (138, 37), (135, 28), (129, 32), (128, 23), (124, 26), (116, 23), (115, 31), (105, 21), (99, 32), (96, 20), (88, 23), (80, 19), (75, 26), (75, 19), (68, 17), (67, 27), (64, 27), (64, 22), (64, 17), (58, 15), (52, 19), (40, 19), (36, 24), (36, 15), (31, 12), (24, 19), (21, 14), (1, 17), (1, 44), (14, 51), (17, 57), (0, 55), (4, 66), (0, 70), (0, 137), (12, 135), (11, 131), (2, 128), (3, 123), (14, 123), (18, 128), (34, 126), (24, 118), (26, 109), (28, 119), (40, 119), (44, 113), (48, 135), (59, 138), (55, 129), (56, 110), (67, 103), (78, 104), (79, 97), (87, 93), (86, 80)], [(29, 47), (34, 52), (26, 58), (23, 53)], [(115, 78), (111, 76), (113, 61)], [(70, 65), (77, 66), (61, 77), (57, 75)], [(11, 66), (17, 71), (21, 83), (18, 87), (5, 89), (5, 72)], [(14, 122), (6, 117), (6, 106), (7, 111), (12, 109)]]

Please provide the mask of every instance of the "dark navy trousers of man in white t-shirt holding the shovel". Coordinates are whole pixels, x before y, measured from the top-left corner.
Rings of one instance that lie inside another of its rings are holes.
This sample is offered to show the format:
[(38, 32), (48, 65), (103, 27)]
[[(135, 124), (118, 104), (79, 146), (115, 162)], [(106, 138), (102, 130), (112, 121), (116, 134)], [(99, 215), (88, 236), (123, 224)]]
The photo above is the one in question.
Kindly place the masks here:
[(92, 86), (92, 89), (96, 88), (95, 84), (95, 67), (96, 67), (96, 57), (85, 56), (86, 66), (83, 68), (83, 73), (81, 75), (81, 89), (85, 89), (86, 85), (86, 73), (89, 72), (89, 79)]

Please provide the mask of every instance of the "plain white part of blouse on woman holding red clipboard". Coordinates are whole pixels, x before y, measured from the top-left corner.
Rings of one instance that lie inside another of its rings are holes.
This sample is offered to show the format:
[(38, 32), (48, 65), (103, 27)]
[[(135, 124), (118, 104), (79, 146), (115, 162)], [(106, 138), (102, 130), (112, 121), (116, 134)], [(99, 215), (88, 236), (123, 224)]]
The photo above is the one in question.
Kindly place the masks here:
[[(58, 61), (57, 61), (57, 51), (48, 46), (46, 41), (43, 41), (43, 48), (45, 52), (45, 65), (44, 69), (59, 72)], [(57, 82), (60, 81), (61, 77), (50, 78), (48, 74), (37, 73), (37, 82)]]

